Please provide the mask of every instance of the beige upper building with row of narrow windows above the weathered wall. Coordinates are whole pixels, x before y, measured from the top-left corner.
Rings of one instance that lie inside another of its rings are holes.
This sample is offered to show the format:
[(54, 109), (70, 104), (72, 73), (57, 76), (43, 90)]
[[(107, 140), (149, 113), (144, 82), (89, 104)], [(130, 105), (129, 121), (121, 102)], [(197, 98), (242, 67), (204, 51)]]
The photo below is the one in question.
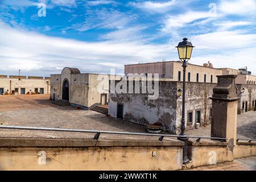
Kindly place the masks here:
[[(251, 75), (247, 68), (213, 68), (209, 62), (203, 66), (189, 63), (187, 65), (186, 81), (188, 82), (217, 83), (217, 75), (237, 75), (236, 84), (256, 84), (256, 76)], [(159, 78), (164, 78), (166, 81), (183, 81), (181, 61), (125, 65), (125, 73), (159, 73)]]

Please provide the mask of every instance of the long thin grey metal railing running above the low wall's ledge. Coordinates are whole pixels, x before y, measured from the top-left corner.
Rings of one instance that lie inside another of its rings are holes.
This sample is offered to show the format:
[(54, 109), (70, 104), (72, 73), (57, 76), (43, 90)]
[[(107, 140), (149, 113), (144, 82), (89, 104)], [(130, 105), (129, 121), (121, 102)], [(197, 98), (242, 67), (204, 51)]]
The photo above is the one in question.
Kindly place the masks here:
[(64, 131), (64, 132), (80, 132), (80, 133), (95, 133), (93, 139), (98, 139), (100, 134), (118, 134), (118, 135), (141, 135), (141, 136), (152, 136), (159, 137), (159, 141), (163, 141), (164, 137), (171, 138), (196, 138), (196, 142), (200, 142), (200, 139), (216, 139), (221, 142), (226, 142), (226, 138), (217, 137), (195, 137), (195, 136), (180, 136), (180, 135), (166, 135), (166, 134), (149, 134), (149, 133), (130, 133), (120, 131), (104, 131), (104, 130), (80, 130), (80, 129), (59, 129), (51, 127), (28, 127), (28, 126), (0, 126), (0, 129), (14, 129), (14, 130), (42, 130), (42, 131)]

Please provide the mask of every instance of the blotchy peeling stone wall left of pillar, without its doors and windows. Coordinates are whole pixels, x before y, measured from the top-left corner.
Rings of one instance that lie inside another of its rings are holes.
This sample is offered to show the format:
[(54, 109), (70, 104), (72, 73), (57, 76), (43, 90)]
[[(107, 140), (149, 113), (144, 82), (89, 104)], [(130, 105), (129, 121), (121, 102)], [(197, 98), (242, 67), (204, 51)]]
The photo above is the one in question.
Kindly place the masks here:
[[(115, 83), (117, 84), (118, 81)], [(186, 113), (192, 111), (192, 123), (187, 129), (195, 128), (195, 113), (201, 111), (200, 124), (210, 123), (210, 108), (213, 87), (216, 84), (187, 82)], [(129, 86), (127, 84), (127, 86)], [(177, 97), (177, 90), (182, 89), (182, 82), (159, 81), (159, 97), (148, 100), (148, 93), (110, 93), (109, 114), (117, 117), (117, 104), (123, 105), (123, 119), (141, 125), (160, 122), (163, 130), (177, 134), (180, 132), (182, 97)]]

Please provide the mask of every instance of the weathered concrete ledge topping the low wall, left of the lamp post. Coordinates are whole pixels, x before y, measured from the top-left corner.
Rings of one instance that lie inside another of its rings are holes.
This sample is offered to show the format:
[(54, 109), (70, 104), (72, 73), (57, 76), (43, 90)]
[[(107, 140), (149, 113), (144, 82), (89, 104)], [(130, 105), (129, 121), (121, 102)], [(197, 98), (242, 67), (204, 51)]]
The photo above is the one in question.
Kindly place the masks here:
[(86, 140), (86, 139), (30, 139), (0, 138), (0, 147), (129, 147), (129, 146), (184, 146), (180, 141), (158, 140)]

